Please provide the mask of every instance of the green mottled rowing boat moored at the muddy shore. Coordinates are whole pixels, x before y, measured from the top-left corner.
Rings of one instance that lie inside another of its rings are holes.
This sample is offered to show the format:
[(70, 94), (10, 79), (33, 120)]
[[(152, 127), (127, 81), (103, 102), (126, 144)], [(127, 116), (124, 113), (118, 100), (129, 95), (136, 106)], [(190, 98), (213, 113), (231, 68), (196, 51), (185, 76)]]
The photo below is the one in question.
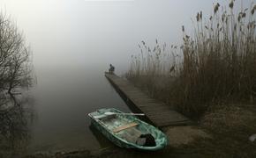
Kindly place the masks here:
[(93, 126), (118, 147), (159, 150), (167, 145), (167, 137), (162, 131), (117, 109), (100, 109), (88, 116)]

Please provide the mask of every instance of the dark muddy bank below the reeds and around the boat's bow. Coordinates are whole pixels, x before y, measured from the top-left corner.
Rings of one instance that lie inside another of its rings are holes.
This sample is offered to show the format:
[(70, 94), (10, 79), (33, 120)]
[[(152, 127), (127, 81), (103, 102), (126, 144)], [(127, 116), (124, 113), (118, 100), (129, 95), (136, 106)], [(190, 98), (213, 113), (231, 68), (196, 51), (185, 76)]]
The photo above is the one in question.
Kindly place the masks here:
[(162, 130), (169, 137), (169, 146), (160, 151), (143, 152), (113, 146), (94, 151), (34, 154), (25, 158), (256, 157), (256, 142), (249, 140), (256, 133), (255, 105), (228, 107), (220, 105), (209, 110), (197, 126), (165, 127)]

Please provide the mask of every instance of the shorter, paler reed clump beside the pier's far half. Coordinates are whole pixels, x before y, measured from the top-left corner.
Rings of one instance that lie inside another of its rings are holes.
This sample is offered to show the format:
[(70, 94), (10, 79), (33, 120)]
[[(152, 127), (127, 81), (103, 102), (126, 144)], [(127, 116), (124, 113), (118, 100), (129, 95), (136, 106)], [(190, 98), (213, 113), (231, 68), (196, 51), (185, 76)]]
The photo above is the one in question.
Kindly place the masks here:
[(166, 84), (172, 80), (177, 46), (169, 48), (166, 43), (161, 45), (157, 39), (153, 48), (147, 46), (145, 41), (141, 41), (138, 46), (140, 54), (132, 55), (131, 68), (126, 77), (136, 86), (147, 90), (152, 97), (168, 98), (163, 91), (166, 91)]

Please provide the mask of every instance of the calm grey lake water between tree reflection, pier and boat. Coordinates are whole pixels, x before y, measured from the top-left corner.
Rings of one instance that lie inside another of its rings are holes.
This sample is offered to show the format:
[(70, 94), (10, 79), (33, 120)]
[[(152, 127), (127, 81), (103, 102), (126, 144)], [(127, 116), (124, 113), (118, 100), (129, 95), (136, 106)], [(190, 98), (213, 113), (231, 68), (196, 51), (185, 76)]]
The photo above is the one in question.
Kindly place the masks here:
[[(106, 68), (107, 69), (107, 68)], [(87, 113), (115, 107), (129, 111), (104, 77), (103, 69), (43, 69), (37, 74), (30, 152), (98, 149), (108, 141), (90, 127)]]

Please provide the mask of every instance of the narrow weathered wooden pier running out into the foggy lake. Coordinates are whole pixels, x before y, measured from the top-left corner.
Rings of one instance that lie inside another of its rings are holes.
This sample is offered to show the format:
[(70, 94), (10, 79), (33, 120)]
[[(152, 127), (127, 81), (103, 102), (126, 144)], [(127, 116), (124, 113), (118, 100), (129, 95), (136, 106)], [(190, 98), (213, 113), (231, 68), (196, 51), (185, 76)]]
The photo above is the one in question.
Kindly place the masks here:
[(105, 73), (105, 76), (115, 90), (117, 90), (117, 93), (124, 99), (125, 103), (132, 105), (132, 108), (135, 108), (137, 111), (145, 113), (147, 119), (154, 126), (178, 126), (191, 123), (189, 118), (174, 111), (169, 105), (148, 97), (129, 81), (109, 73)]

